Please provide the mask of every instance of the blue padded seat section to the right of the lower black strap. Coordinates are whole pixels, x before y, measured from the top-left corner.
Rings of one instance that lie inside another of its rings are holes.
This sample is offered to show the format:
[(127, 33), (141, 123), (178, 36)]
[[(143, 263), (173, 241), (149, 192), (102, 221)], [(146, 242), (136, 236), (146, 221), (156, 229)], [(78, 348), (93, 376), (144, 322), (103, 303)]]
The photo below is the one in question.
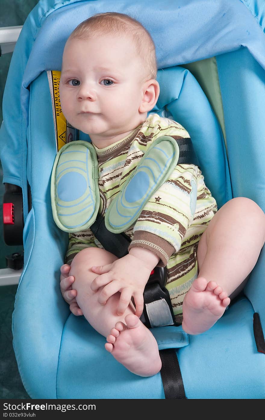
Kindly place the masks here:
[(253, 308), (245, 297), (210, 330), (189, 339), (178, 350), (187, 398), (265, 398), (265, 357), (257, 352)]

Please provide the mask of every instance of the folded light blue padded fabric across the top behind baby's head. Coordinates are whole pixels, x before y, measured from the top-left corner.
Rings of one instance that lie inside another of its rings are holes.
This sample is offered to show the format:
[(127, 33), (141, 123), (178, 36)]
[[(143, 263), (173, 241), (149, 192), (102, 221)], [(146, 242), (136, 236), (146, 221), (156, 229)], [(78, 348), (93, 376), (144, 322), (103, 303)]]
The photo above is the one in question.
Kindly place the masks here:
[[(85, 18), (103, 11), (128, 13), (150, 31), (156, 45), (158, 68), (223, 54), (241, 45), (247, 46), (260, 65), (265, 67), (264, 33), (252, 13), (239, 0), (165, 0), (163, 12), (159, 0), (135, 0), (133, 4), (129, 0), (45, 0), (40, 5), (47, 12), (43, 10), (39, 16), (40, 11), (36, 8), (34, 20), (38, 36), (26, 67), (24, 86), (42, 70), (60, 70), (63, 47), (72, 30)], [(186, 28), (189, 28), (189, 33)], [(57, 54), (54, 54), (55, 50)], [(39, 51), (42, 51), (41, 57)], [(50, 67), (46, 68), (47, 64)]]

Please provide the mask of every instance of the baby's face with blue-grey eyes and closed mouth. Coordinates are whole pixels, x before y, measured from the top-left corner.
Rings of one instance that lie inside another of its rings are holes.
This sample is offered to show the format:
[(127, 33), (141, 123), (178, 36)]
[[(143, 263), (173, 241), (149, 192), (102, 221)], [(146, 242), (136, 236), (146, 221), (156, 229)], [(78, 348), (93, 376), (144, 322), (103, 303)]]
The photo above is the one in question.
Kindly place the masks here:
[(102, 35), (67, 41), (60, 79), (62, 111), (97, 146), (144, 121), (146, 115), (139, 112), (142, 83), (141, 61), (131, 39)]

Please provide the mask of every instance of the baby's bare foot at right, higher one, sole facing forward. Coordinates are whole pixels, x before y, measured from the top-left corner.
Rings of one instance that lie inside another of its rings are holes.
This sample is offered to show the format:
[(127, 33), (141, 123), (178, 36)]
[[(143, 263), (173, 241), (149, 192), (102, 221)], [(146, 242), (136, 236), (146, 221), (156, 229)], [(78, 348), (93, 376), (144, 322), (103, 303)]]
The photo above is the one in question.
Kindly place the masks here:
[(223, 315), (230, 299), (215, 283), (199, 277), (192, 283), (183, 302), (182, 328), (188, 334), (209, 330)]

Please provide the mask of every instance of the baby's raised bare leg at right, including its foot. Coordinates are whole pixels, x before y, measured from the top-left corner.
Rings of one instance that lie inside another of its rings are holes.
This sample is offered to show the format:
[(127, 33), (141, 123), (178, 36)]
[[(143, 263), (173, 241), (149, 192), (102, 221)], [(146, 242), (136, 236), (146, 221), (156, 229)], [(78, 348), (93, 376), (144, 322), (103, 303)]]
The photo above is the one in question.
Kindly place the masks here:
[(229, 297), (243, 289), (264, 241), (265, 214), (255, 202), (238, 197), (218, 210), (199, 241), (199, 276), (184, 298), (184, 331), (199, 334), (215, 324)]

